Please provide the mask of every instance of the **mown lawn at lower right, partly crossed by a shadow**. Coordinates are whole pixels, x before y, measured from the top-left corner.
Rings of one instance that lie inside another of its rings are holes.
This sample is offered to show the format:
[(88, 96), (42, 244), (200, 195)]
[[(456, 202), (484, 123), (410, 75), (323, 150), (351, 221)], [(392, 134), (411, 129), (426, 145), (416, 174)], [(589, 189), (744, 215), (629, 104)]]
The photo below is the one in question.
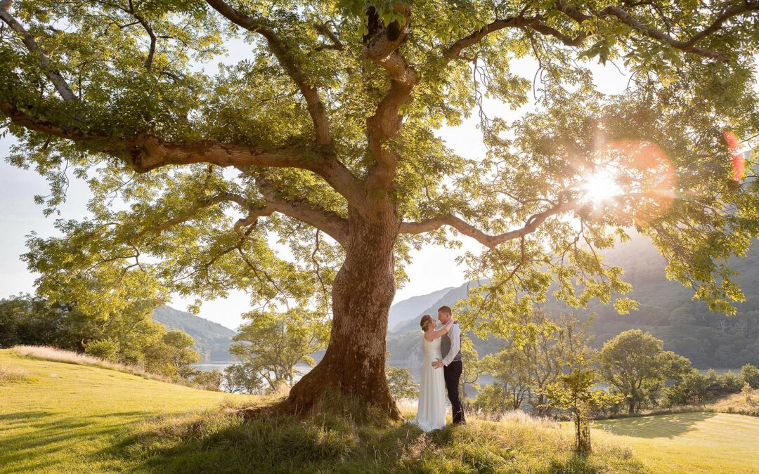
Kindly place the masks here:
[(594, 441), (628, 444), (653, 472), (759, 472), (759, 418), (673, 413), (594, 422)]

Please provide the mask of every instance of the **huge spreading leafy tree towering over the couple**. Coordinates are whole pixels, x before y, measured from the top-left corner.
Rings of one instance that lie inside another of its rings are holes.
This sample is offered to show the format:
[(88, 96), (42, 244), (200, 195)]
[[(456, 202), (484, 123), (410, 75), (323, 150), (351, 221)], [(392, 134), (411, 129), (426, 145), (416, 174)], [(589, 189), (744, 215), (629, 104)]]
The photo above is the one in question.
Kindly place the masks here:
[[(472, 301), (483, 328), (528, 312), (552, 283), (574, 306), (624, 293), (596, 250), (633, 225), (672, 278), (729, 310), (742, 295), (725, 262), (745, 253), (759, 206), (722, 137), (759, 132), (757, 11), (756, 0), (0, 0), (9, 159), (49, 178), (50, 212), (67, 171), (93, 191), (92, 215), (58, 221), (65, 238), (32, 237), (27, 260), (41, 294), (84, 312), (118, 309), (127, 284), (331, 312), (326, 354), (286, 410), (332, 388), (398, 416), (386, 315), (424, 243), (483, 245), (465, 257), (491, 278)], [(247, 54), (209, 67), (228, 49)], [(534, 80), (515, 72), (527, 57)], [(596, 58), (624, 62), (622, 94), (597, 90)], [(485, 98), (531, 112), (494, 117)], [(475, 110), (488, 152), (465, 159), (436, 130)]]

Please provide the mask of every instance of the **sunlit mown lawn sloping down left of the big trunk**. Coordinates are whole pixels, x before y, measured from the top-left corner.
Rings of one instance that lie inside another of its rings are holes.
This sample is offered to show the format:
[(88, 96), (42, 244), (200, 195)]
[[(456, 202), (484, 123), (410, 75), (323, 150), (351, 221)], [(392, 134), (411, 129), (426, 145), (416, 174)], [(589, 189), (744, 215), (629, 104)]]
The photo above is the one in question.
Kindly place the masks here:
[(114, 370), (20, 357), (0, 350), (0, 365), (31, 381), (0, 384), (0, 472), (103, 472), (136, 461), (118, 446), (143, 420), (218, 407), (241, 395), (146, 380)]

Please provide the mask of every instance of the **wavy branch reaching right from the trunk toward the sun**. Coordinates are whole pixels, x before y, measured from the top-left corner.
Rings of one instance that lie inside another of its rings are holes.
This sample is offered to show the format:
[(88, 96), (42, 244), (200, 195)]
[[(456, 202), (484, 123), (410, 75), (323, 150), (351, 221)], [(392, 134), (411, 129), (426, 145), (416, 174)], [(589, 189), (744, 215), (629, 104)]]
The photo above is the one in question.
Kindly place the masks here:
[(472, 237), (474, 240), (477, 240), (484, 246), (493, 249), (500, 243), (504, 243), (507, 240), (513, 240), (519, 237), (524, 237), (527, 234), (531, 234), (538, 227), (540, 227), (540, 224), (543, 224), (547, 218), (550, 218), (552, 215), (557, 215), (562, 212), (575, 209), (576, 206), (577, 202), (575, 201), (559, 204), (559, 206), (554, 206), (550, 209), (546, 209), (546, 211), (531, 215), (523, 227), (497, 235), (486, 234), (483, 231), (480, 231), (480, 229), (474, 227), (474, 225), (469, 224), (463, 219), (458, 218), (452, 214), (440, 215), (436, 218), (428, 219), (427, 221), (402, 222), (399, 231), (402, 234), (423, 234), (424, 232), (435, 231), (436, 229), (441, 228), (443, 225), (448, 225), (461, 232), (461, 234)]

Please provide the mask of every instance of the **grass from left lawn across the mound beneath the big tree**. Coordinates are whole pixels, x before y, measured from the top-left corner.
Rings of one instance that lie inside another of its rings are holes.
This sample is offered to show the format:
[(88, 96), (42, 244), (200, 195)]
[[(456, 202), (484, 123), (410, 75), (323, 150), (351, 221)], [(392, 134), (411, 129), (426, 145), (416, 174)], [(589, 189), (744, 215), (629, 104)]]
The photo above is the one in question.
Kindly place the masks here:
[(262, 399), (10, 350), (0, 350), (0, 364), (29, 375), (0, 384), (4, 473), (646, 472), (630, 450), (607, 441), (577, 456), (559, 423), (524, 414), (430, 435), (408, 423), (359, 423), (351, 410), (244, 422), (220, 410), (222, 402)]

